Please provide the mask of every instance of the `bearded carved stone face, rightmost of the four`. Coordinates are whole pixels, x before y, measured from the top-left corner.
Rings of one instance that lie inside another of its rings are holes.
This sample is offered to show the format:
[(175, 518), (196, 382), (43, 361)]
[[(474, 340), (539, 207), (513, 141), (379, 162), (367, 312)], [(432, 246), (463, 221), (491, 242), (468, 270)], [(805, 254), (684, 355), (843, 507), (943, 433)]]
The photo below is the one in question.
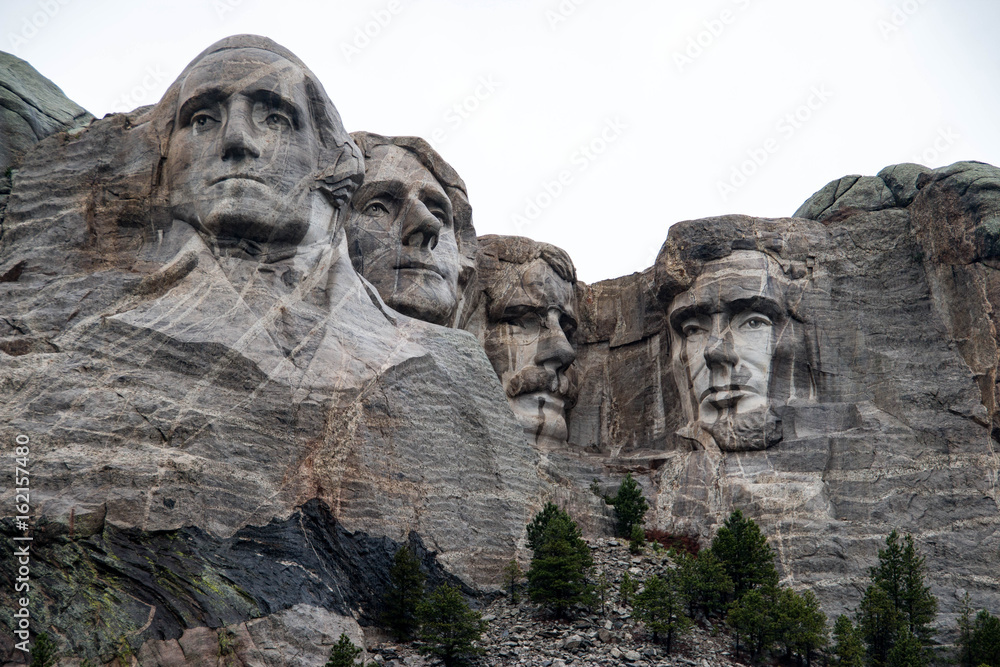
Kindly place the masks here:
[(687, 425), (680, 434), (723, 451), (766, 449), (782, 437), (775, 408), (815, 400), (791, 283), (764, 253), (709, 262), (668, 308), (671, 372)]

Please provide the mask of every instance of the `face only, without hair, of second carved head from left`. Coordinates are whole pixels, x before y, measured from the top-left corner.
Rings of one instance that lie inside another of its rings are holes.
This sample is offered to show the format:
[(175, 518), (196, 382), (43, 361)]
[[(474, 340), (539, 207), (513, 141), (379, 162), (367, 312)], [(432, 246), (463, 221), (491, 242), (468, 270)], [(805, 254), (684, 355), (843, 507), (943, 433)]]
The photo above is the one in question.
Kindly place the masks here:
[(389, 306), (451, 323), (460, 268), (452, 204), (413, 153), (391, 145), (372, 150), (347, 234), (355, 268)]

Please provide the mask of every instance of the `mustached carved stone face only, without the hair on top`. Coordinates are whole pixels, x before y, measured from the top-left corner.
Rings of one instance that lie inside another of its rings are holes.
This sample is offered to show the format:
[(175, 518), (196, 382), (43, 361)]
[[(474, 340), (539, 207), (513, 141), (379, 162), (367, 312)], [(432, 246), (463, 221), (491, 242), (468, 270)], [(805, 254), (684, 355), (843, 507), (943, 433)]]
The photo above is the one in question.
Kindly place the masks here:
[(490, 304), (484, 348), (530, 442), (566, 442), (576, 383), (574, 287), (544, 260), (517, 267), (517, 281)]

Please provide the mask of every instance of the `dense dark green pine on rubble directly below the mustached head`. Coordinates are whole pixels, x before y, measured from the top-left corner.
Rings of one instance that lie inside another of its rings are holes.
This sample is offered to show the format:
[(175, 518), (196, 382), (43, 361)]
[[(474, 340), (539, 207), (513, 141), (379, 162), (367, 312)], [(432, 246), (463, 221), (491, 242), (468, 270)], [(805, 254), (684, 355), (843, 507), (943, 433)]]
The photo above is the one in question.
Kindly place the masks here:
[(567, 616), (573, 607), (593, 601), (587, 573), (594, 561), (569, 514), (546, 505), (528, 526), (528, 543), (534, 549), (528, 570), (528, 595), (534, 602)]

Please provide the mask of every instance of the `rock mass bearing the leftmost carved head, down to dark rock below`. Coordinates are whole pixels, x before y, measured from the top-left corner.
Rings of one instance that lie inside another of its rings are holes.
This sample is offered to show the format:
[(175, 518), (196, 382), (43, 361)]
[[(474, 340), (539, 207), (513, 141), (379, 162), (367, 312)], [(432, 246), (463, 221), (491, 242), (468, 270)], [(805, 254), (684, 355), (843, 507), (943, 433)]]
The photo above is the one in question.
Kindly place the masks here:
[[(354, 271), (340, 221), (362, 164), (304, 65), (254, 37), (24, 159), (0, 387), (2, 439), (30, 448), (35, 631), (178, 664), (170, 642), (198, 628), (266, 629), (323, 664), (327, 637), (377, 620), (400, 543), (466, 586), (523, 549), (538, 454), (470, 334)], [(5, 519), (8, 552), (20, 534)]]

